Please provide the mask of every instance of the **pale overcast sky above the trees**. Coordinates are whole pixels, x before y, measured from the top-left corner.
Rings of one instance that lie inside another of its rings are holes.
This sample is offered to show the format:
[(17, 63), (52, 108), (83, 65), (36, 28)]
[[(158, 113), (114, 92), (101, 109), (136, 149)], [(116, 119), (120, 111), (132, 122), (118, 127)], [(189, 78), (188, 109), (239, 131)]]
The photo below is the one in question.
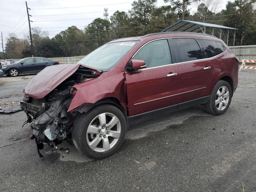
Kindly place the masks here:
[[(31, 27), (39, 27), (42, 31), (47, 31), (50, 38), (69, 26), (83, 29), (95, 18), (104, 18), (104, 8), (108, 8), (108, 18), (116, 10), (128, 12), (132, 2), (133, 0), (27, 0), (28, 8), (31, 9), (29, 14), (32, 15), (30, 20), (33, 21)], [(224, 9), (226, 3), (227, 0), (221, 0), (217, 11)], [(0, 0), (0, 4), (0, 31), (3, 34), (5, 47), (10, 33), (15, 33), (18, 38), (29, 34), (28, 16), (25, 0)], [(157, 6), (162, 5), (167, 4), (164, 0), (158, 0)], [(195, 4), (190, 5), (189, 8), (191, 13), (196, 12)], [(0, 50), (2, 51), (2, 48)]]

